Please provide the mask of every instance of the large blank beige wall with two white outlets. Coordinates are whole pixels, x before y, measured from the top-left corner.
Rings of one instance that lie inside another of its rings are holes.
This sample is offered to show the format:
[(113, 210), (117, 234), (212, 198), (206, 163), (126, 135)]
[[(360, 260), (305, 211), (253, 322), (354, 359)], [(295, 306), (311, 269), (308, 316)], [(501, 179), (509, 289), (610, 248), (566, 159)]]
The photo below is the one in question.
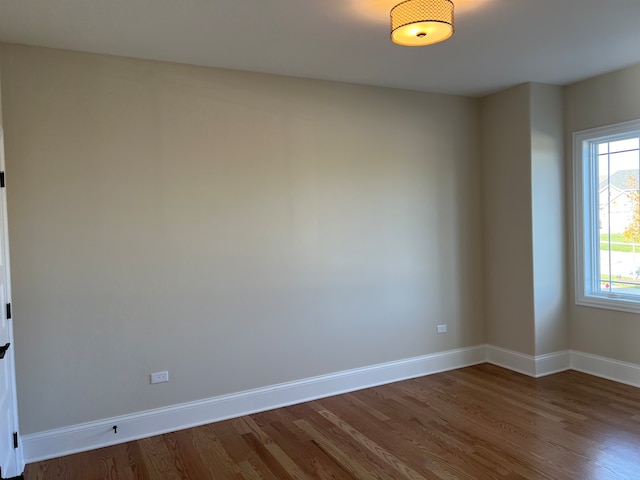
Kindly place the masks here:
[(22, 434), (484, 343), (476, 100), (2, 55)]

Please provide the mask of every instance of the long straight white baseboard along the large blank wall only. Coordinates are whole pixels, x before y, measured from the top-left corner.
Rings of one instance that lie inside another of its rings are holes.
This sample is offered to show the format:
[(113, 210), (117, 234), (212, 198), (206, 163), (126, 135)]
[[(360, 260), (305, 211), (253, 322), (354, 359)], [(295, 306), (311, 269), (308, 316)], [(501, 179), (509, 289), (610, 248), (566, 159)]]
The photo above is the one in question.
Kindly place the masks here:
[[(330, 375), (24, 435), (27, 463), (250, 413), (484, 363), (485, 346), (450, 350)], [(117, 425), (117, 434), (113, 426)]]

